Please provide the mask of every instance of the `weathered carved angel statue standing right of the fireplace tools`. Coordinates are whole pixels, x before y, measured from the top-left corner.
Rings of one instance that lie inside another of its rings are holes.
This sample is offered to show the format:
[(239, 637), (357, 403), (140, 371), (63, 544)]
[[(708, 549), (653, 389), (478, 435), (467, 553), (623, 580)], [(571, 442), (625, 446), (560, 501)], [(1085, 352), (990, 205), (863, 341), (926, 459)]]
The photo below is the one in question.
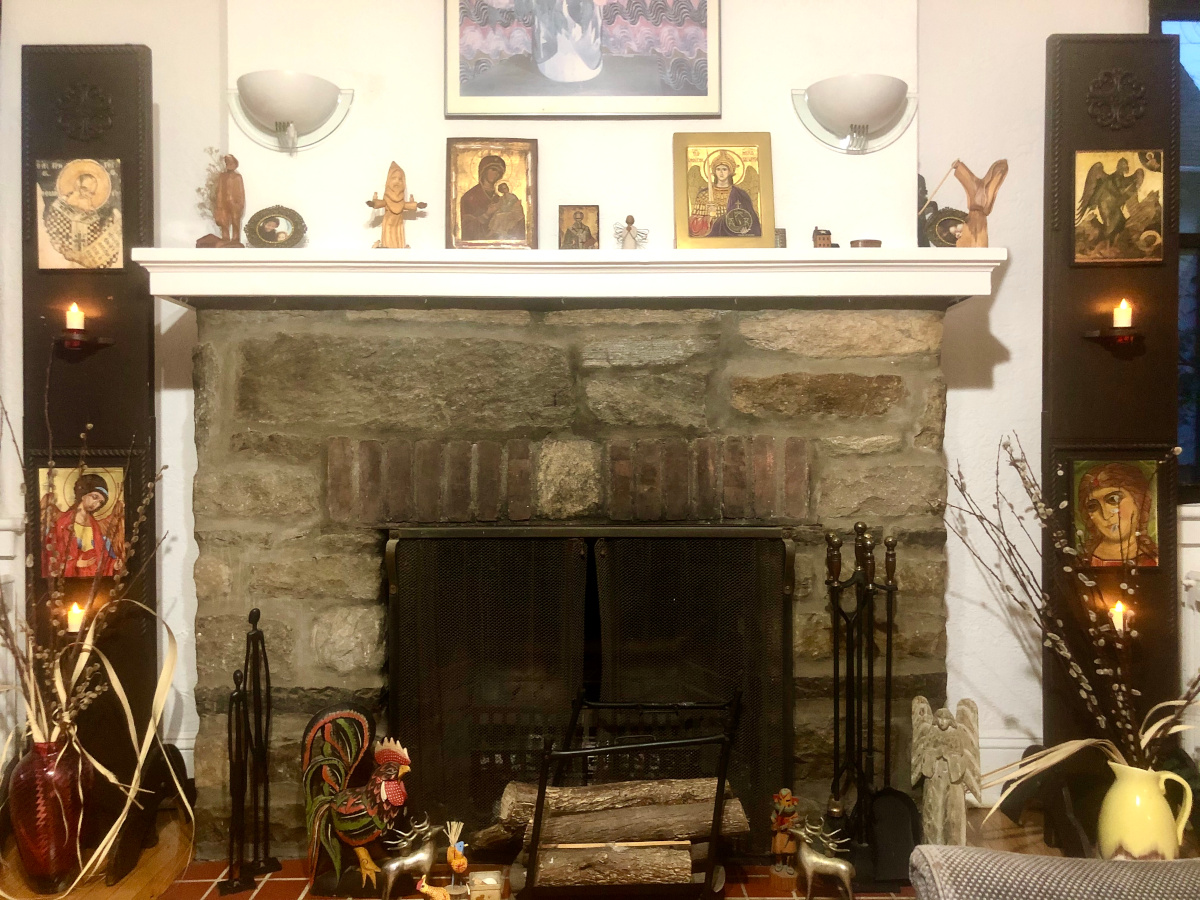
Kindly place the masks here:
[(983, 802), (979, 779), (979, 707), (960, 700), (958, 714), (936, 713), (912, 700), (912, 784), (925, 779), (922, 828), (926, 844), (967, 842), (967, 793)]

